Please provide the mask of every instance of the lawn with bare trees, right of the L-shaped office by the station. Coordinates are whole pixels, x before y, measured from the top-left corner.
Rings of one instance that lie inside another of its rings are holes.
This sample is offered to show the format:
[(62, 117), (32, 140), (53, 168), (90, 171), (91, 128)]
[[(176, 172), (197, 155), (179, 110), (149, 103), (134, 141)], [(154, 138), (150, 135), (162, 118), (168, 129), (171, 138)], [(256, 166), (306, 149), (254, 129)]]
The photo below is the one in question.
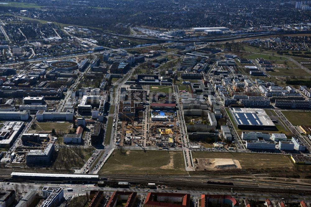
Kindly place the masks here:
[(92, 148), (60, 148), (53, 166), (62, 169), (81, 168), (91, 154), (93, 154)]

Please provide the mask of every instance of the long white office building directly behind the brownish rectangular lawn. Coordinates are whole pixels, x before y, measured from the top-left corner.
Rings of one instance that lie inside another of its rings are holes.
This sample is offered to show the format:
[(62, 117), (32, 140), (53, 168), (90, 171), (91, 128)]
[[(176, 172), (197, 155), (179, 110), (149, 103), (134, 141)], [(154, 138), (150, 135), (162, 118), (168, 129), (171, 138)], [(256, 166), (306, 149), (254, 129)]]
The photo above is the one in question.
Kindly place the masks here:
[(74, 110), (68, 109), (66, 112), (46, 112), (46, 111), (38, 111), (36, 113), (37, 121), (44, 120), (66, 120), (71, 122), (73, 119)]

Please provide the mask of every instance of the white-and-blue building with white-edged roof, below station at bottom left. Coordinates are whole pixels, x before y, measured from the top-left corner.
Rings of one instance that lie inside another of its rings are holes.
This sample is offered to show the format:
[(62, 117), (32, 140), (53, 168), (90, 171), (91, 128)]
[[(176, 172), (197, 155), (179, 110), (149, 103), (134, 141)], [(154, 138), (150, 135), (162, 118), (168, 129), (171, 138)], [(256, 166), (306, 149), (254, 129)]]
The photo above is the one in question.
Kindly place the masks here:
[(42, 194), (45, 200), (40, 207), (59, 206), (64, 199), (64, 190), (61, 187), (44, 187)]

